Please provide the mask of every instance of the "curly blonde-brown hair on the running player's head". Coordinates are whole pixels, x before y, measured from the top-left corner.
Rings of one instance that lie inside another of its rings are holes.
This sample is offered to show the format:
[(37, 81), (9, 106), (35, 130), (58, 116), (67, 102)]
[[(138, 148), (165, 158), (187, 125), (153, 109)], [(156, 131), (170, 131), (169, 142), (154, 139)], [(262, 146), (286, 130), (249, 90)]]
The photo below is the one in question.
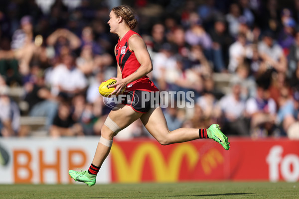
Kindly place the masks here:
[(137, 20), (135, 18), (135, 10), (129, 5), (120, 5), (112, 8), (112, 11), (117, 17), (121, 16), (130, 29), (134, 29), (137, 25)]

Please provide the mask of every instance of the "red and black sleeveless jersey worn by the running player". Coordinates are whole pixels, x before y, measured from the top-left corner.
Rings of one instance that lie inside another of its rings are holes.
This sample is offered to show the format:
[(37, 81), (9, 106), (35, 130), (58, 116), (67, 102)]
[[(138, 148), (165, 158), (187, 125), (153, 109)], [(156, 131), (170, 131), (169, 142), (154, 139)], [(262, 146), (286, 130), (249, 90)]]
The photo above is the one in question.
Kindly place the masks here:
[[(116, 61), (121, 68), (122, 78), (126, 78), (132, 73), (134, 73), (141, 64), (138, 62), (135, 53), (129, 49), (129, 38), (138, 33), (133, 30), (129, 30), (122, 40), (119, 39), (115, 51), (116, 51)], [(140, 35), (139, 35), (140, 36)], [(128, 91), (159, 91), (154, 84), (149, 80), (148, 76), (144, 76), (138, 80), (135, 80), (127, 85)]]

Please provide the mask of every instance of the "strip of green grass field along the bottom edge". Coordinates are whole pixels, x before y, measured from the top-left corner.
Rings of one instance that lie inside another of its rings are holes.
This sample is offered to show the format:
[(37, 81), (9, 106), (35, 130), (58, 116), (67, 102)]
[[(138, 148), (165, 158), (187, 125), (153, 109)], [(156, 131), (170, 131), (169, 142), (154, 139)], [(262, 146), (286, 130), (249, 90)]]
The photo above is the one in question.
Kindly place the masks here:
[(299, 199), (299, 183), (0, 185), (0, 199)]

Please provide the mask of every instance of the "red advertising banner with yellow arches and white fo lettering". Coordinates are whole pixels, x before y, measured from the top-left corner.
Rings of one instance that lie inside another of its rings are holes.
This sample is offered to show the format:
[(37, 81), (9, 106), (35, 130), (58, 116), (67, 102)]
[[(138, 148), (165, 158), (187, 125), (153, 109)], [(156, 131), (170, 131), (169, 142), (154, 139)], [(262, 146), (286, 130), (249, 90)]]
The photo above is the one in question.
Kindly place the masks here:
[(231, 138), (226, 151), (212, 140), (162, 146), (155, 140), (115, 141), (112, 182), (299, 180), (299, 141)]

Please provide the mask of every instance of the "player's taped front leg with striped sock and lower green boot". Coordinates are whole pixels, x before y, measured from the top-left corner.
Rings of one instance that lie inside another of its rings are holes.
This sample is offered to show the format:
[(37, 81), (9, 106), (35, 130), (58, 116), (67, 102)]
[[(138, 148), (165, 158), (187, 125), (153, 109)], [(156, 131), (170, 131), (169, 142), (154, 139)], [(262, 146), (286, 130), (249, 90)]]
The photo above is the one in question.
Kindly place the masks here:
[(88, 171), (73, 171), (69, 170), (69, 175), (75, 181), (86, 183), (89, 187), (96, 183), (96, 176), (107, 158), (112, 147), (113, 137), (117, 133), (129, 126), (132, 122), (140, 118), (142, 113), (136, 112), (132, 107), (123, 104), (118, 104), (113, 109), (101, 130), (101, 138), (98, 143), (94, 159)]

